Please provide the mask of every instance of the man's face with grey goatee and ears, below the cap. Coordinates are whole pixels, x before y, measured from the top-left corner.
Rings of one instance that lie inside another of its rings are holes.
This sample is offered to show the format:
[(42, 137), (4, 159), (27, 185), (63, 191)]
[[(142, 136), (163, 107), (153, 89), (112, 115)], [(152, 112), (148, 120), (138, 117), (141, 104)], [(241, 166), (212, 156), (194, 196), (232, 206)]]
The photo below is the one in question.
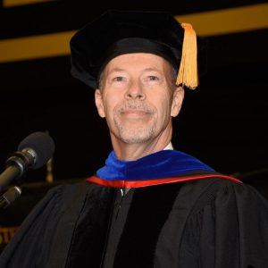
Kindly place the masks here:
[(182, 99), (182, 88), (172, 86), (170, 63), (155, 54), (113, 58), (105, 66), (102, 89), (96, 89), (96, 107), (106, 118), (112, 142), (128, 144), (146, 143), (171, 131)]

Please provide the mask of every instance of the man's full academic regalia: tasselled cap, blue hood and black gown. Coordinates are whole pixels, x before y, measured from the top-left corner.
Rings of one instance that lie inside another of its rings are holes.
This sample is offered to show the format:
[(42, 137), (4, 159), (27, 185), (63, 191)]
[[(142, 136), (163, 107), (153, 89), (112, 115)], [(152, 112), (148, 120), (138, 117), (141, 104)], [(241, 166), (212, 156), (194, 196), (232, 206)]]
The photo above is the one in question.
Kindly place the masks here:
[[(70, 45), (71, 73), (90, 88), (120, 54), (159, 55), (188, 88), (206, 71), (205, 40), (167, 13), (109, 11)], [(267, 268), (267, 226), (255, 188), (190, 155), (163, 150), (124, 162), (112, 152), (88, 180), (48, 191), (0, 267)]]

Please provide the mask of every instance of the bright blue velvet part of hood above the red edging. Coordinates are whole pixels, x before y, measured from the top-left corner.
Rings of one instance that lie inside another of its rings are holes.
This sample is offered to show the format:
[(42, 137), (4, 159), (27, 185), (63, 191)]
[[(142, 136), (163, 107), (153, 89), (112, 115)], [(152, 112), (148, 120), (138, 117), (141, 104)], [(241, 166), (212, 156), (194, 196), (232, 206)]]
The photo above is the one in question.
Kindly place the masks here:
[(105, 180), (150, 180), (214, 169), (197, 158), (175, 150), (163, 150), (135, 161), (121, 161), (112, 151), (96, 175)]

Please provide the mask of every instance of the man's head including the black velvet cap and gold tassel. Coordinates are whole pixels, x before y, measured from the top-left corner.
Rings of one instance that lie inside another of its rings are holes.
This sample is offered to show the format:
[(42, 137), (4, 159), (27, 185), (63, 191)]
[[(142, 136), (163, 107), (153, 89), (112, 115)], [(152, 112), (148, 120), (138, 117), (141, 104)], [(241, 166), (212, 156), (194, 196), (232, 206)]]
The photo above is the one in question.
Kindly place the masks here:
[(183, 85), (197, 87), (197, 66), (204, 74), (205, 43), (168, 13), (109, 11), (71, 38), (71, 73), (96, 88), (97, 111), (114, 149), (163, 149), (172, 138), (172, 117), (180, 113)]

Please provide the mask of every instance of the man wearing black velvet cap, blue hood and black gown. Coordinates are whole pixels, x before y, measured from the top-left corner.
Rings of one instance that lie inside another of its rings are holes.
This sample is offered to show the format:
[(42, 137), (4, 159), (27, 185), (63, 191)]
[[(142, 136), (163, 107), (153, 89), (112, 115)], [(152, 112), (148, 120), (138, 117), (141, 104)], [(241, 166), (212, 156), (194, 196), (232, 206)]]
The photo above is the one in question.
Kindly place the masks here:
[(71, 39), (71, 65), (96, 88), (113, 152), (87, 181), (48, 192), (0, 267), (268, 267), (264, 198), (172, 147), (184, 88), (205, 73), (194, 29), (109, 11)]

